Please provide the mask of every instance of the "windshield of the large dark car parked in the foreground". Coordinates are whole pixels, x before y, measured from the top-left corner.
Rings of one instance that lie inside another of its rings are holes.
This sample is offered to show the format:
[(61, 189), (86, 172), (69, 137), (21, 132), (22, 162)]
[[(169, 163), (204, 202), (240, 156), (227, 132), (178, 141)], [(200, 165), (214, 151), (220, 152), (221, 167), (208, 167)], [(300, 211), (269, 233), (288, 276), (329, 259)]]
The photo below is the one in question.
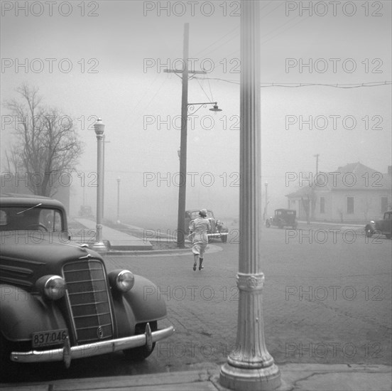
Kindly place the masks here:
[(0, 208), (0, 231), (43, 230), (61, 232), (63, 229), (60, 210), (33, 207)]

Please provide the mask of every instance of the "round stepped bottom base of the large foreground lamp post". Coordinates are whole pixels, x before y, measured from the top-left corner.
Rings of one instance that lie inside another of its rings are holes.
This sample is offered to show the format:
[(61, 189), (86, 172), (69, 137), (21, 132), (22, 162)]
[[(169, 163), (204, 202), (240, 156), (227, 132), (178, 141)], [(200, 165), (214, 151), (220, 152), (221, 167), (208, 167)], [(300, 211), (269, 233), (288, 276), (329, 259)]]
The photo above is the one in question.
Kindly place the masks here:
[(226, 363), (220, 370), (219, 382), (231, 390), (276, 390), (281, 385), (281, 373), (275, 364), (267, 368), (246, 369)]

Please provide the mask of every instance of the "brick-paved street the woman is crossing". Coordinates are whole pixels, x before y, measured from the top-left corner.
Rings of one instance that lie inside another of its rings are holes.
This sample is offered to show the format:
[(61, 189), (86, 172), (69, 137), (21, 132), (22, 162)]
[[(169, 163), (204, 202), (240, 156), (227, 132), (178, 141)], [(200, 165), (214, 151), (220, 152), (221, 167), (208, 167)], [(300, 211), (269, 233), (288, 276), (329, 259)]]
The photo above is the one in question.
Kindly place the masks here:
[[(323, 228), (324, 229), (324, 228)], [(155, 282), (175, 334), (148, 360), (132, 364), (118, 353), (28, 369), (21, 381), (157, 373), (225, 363), (235, 349), (238, 291), (237, 231), (222, 251), (192, 270), (192, 255), (106, 257), (109, 269), (129, 268)], [(266, 344), (276, 363), (391, 365), (392, 241), (353, 232), (264, 229), (260, 269), (266, 274)]]

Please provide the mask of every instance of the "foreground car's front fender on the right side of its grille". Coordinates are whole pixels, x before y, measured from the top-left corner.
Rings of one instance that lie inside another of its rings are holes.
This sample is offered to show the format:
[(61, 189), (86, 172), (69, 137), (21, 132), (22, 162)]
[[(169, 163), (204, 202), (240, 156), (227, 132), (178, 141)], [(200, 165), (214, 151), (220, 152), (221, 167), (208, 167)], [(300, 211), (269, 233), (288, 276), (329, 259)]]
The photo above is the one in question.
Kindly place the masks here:
[(119, 337), (134, 333), (136, 323), (165, 318), (167, 314), (165, 298), (170, 299), (168, 295), (170, 292), (161, 293), (156, 284), (135, 275), (135, 284), (130, 291), (113, 296)]

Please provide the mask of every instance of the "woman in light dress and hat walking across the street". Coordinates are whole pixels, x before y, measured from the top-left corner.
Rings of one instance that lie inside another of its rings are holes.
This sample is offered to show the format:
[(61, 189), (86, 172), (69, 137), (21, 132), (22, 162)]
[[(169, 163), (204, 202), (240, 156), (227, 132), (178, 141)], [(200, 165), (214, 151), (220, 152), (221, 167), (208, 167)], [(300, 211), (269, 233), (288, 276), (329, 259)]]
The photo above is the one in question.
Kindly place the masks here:
[(199, 258), (199, 270), (204, 269), (203, 259), (205, 255), (205, 249), (208, 245), (207, 231), (211, 230), (211, 223), (207, 219), (207, 210), (199, 210), (198, 218), (190, 222), (189, 237), (192, 240), (192, 252), (193, 252), (193, 270), (196, 270), (197, 258)]

